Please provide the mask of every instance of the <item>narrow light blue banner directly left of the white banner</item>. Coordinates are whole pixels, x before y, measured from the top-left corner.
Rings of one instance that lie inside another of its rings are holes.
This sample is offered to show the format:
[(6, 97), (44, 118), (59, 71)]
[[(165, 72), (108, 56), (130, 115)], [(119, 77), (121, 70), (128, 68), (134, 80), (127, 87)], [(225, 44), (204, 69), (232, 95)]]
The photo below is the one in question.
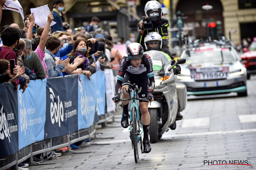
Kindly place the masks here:
[(97, 71), (96, 77), (97, 111), (98, 115), (104, 115), (106, 106), (106, 84), (104, 71)]

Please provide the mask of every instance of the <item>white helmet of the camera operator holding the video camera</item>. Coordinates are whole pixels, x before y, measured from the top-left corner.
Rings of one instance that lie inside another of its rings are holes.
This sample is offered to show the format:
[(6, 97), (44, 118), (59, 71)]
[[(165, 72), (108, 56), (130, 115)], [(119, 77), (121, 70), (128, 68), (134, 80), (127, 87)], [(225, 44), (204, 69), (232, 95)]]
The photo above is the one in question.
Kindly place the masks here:
[[(158, 12), (156, 15), (158, 15), (158, 19), (160, 19), (162, 15), (162, 6), (156, 0), (148, 1), (144, 7), (144, 12), (149, 18), (154, 16), (154, 14), (152, 14), (153, 12)], [(150, 14), (152, 14), (152, 16)]]

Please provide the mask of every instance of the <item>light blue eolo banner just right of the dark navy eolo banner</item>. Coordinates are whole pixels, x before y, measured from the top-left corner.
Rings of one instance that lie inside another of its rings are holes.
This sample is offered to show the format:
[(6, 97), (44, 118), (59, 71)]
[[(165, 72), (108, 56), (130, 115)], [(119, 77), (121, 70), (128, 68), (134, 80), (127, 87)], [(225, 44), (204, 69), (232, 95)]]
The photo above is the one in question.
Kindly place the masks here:
[[(78, 128), (89, 128), (94, 123), (96, 109), (96, 74), (89, 81), (85, 75), (79, 75), (78, 82)], [(97, 87), (98, 88), (98, 87)]]

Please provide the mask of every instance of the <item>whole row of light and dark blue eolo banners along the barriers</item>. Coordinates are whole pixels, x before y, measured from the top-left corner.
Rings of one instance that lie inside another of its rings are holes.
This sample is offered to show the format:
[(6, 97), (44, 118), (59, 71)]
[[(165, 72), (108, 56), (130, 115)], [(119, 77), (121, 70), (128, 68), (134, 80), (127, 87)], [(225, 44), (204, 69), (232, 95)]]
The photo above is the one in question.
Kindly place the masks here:
[[(105, 81), (97, 76), (105, 80), (103, 71), (90, 81), (85, 75), (33, 80), (24, 93), (11, 83), (0, 84), (0, 156), (93, 125), (97, 97), (105, 101), (106, 93)], [(105, 104), (98, 109), (104, 111)]]

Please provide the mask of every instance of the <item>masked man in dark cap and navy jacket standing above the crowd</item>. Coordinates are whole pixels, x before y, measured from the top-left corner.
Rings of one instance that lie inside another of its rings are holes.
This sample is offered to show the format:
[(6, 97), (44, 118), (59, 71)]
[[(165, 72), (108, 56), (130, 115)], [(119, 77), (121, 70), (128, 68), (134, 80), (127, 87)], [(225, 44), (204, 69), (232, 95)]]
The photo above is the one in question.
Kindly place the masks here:
[(52, 14), (54, 17), (53, 21), (55, 21), (56, 24), (52, 26), (52, 32), (64, 30), (63, 25), (66, 25), (67, 22), (63, 22), (64, 20), (63, 13), (62, 13), (63, 10), (64, 10), (63, 0), (55, 0)]

